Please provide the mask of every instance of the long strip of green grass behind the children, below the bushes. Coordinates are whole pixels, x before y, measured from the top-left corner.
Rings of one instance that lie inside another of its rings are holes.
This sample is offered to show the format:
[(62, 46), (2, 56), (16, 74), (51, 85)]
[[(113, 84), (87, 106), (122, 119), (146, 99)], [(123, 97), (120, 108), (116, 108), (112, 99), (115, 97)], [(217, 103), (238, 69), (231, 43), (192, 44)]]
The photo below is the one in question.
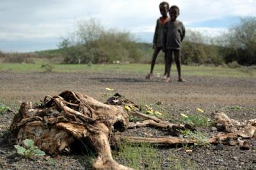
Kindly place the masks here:
[[(44, 59), (35, 59), (35, 64), (19, 64), (19, 63), (0, 63), (0, 72), (45, 72), (42, 65), (47, 64)], [(108, 65), (67, 65), (67, 64), (52, 64), (52, 72), (92, 72), (92, 73), (140, 73), (146, 74), (150, 70), (148, 64), (108, 64)], [(154, 73), (162, 75), (164, 65), (156, 65)], [(241, 68), (225, 68), (216, 66), (182, 66), (183, 75), (196, 76), (215, 76), (215, 77), (256, 77), (256, 69), (247, 68), (247, 72)], [(177, 74), (176, 67), (172, 66), (172, 72)]]

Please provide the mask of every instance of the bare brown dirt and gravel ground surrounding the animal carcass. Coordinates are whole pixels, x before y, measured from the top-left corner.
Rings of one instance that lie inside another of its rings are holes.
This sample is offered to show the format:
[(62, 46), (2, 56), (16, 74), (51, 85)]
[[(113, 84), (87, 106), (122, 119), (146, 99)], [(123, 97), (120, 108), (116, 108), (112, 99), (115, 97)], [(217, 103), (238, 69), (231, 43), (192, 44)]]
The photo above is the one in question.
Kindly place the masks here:
[[(66, 89), (90, 95), (102, 102), (105, 88), (118, 93), (137, 104), (163, 102), (168, 107), (170, 118), (181, 112), (196, 112), (204, 109), (206, 116), (218, 110), (236, 120), (256, 118), (256, 79), (231, 77), (184, 77), (186, 82), (163, 82), (159, 77), (148, 81), (145, 75), (137, 73), (9, 73), (0, 72), (0, 102), (6, 105), (20, 105), (20, 102), (38, 102), (45, 95), (58, 95)], [(109, 92), (113, 95), (115, 92)], [(230, 109), (237, 106), (240, 109)], [(228, 109), (229, 108), (229, 109)], [(13, 148), (14, 139), (8, 127), (13, 114), (0, 115), (0, 169), (90, 169), (90, 162), (83, 155), (53, 155), (52, 157), (24, 159)], [(174, 121), (169, 120), (169, 121)], [(150, 131), (155, 136), (164, 136), (161, 130), (141, 128), (129, 130), (128, 135), (143, 136)], [(203, 129), (211, 135), (210, 128)], [(218, 150), (214, 145), (193, 149), (193, 154), (175, 148), (161, 148), (159, 154), (175, 153), (177, 158), (190, 158), (198, 169), (256, 169), (256, 137), (249, 140), (250, 150), (239, 150), (238, 146), (224, 146)], [(122, 158), (117, 158), (122, 163)], [(168, 162), (169, 161), (169, 162)], [(170, 160), (163, 162), (172, 164)], [(141, 169), (147, 169), (142, 166)], [(188, 167), (189, 169), (189, 167)]]

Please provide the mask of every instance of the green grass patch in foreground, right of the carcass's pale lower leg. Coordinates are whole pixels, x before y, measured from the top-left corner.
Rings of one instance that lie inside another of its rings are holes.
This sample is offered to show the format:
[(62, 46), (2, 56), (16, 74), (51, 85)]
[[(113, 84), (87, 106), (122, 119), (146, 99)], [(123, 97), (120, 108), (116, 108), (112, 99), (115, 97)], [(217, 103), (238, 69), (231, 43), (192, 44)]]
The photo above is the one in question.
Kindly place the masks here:
[[(161, 150), (160, 150), (161, 151)], [(122, 164), (134, 169), (197, 169), (198, 166), (189, 158), (177, 158), (173, 153), (159, 153), (157, 146), (150, 144), (120, 144), (118, 151), (113, 151), (115, 159), (121, 159)]]

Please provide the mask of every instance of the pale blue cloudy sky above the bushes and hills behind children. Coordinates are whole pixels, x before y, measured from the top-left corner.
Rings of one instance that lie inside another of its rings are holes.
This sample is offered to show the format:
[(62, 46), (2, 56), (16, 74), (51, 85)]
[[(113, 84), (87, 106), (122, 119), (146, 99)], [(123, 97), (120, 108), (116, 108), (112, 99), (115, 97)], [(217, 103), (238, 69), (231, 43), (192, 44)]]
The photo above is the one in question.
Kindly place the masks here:
[[(106, 28), (130, 31), (152, 42), (160, 17), (157, 0), (1, 0), (0, 50), (31, 52), (58, 48), (77, 22), (95, 18)], [(241, 17), (256, 17), (256, 0), (177, 0), (186, 29), (218, 36)]]

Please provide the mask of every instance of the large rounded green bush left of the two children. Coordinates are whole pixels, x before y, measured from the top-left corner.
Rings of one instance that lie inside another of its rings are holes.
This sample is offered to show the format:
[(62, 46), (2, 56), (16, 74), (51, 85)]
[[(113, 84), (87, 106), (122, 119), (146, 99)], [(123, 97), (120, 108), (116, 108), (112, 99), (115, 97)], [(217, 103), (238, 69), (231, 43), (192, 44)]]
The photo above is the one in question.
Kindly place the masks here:
[(80, 22), (70, 38), (60, 43), (64, 63), (137, 63), (140, 50), (129, 32), (105, 30), (97, 20)]

